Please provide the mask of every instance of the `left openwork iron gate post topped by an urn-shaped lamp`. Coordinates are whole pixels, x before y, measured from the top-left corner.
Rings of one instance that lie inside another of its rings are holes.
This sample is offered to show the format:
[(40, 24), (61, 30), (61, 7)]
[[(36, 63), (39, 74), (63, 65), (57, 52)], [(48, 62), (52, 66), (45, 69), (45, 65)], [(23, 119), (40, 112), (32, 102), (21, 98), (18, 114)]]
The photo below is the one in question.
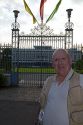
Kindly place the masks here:
[(14, 10), (15, 22), (12, 23), (12, 72), (11, 85), (19, 83), (19, 23), (17, 22), (18, 10)]

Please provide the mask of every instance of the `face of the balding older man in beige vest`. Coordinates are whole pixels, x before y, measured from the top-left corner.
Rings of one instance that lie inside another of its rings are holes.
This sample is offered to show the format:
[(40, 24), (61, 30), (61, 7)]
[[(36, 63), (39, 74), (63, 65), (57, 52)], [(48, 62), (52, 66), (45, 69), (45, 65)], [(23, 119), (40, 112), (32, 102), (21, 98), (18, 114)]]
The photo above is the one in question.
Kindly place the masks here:
[(57, 51), (53, 56), (53, 66), (60, 76), (66, 76), (71, 68), (70, 58), (65, 51)]

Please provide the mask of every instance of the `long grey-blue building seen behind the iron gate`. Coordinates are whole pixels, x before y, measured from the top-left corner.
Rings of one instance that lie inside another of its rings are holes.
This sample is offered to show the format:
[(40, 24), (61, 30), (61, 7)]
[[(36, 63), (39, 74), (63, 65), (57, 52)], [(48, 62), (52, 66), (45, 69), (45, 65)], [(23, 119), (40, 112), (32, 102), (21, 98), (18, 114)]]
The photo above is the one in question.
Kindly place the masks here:
[[(68, 49), (73, 63), (82, 58), (82, 52), (77, 48)], [(54, 49), (51, 46), (34, 46), (33, 49), (14, 49), (12, 62), (19, 67), (48, 67), (52, 64)]]

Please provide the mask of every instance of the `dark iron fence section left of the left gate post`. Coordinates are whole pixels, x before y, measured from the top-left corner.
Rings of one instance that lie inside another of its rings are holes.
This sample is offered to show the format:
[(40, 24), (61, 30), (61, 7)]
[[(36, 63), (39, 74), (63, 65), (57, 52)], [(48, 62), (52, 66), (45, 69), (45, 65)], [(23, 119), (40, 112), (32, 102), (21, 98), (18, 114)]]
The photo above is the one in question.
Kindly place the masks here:
[(9, 73), (11, 71), (12, 45), (0, 44), (0, 72)]

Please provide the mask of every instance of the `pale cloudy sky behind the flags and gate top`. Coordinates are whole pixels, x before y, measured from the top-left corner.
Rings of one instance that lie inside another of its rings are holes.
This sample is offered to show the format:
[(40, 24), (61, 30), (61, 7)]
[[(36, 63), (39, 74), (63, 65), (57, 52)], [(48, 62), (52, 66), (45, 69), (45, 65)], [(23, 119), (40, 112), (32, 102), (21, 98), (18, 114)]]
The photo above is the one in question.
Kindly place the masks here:
[[(40, 1), (26, 0), (38, 23), (40, 19)], [(44, 23), (53, 11), (58, 0), (47, 0), (44, 4)], [(66, 9), (73, 9), (71, 13), (71, 22), (74, 23), (73, 42), (74, 44), (83, 43), (83, 0), (62, 0), (58, 12), (46, 24), (53, 29), (54, 34), (65, 33), (65, 23), (68, 21)], [(0, 43), (11, 44), (12, 23), (14, 22), (13, 10), (19, 10), (18, 23), (20, 24), (20, 33), (30, 34), (31, 29), (38, 24), (33, 24), (32, 17), (26, 12), (23, 0), (0, 0)]]

